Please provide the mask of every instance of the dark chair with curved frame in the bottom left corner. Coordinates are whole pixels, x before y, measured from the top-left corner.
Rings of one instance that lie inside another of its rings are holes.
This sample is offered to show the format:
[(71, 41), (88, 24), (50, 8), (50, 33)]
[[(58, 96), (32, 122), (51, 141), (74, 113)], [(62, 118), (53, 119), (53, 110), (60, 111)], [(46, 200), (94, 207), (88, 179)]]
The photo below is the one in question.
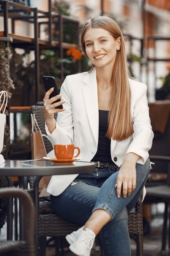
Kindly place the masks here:
[(30, 195), (23, 189), (0, 189), (0, 197), (19, 198), (25, 216), (25, 241), (0, 240), (1, 256), (35, 256), (34, 223), (35, 209)]

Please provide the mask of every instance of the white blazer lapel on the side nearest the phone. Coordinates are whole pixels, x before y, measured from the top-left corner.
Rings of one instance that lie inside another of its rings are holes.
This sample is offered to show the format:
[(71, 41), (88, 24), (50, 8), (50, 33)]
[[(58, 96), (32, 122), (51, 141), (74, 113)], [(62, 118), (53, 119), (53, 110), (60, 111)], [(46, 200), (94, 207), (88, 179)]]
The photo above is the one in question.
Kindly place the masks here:
[(84, 99), (84, 105), (86, 108), (88, 121), (97, 145), (99, 135), (99, 108), (97, 97), (96, 71), (93, 70), (91, 73), (88, 73), (83, 80), (83, 83), (84, 86), (82, 87), (82, 94)]

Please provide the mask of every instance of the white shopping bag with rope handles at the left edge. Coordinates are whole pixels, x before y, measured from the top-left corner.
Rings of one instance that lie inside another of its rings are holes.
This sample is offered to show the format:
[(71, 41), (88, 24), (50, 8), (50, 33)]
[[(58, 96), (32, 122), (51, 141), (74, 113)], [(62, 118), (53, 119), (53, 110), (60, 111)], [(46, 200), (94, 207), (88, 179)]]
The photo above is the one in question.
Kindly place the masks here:
[[(1, 99), (3, 99), (1, 103)], [(7, 91), (0, 92), (0, 153), (4, 146), (4, 128), (6, 124), (6, 115), (4, 114), (7, 108), (8, 94)], [(3, 155), (0, 154), (0, 164), (5, 162)]]

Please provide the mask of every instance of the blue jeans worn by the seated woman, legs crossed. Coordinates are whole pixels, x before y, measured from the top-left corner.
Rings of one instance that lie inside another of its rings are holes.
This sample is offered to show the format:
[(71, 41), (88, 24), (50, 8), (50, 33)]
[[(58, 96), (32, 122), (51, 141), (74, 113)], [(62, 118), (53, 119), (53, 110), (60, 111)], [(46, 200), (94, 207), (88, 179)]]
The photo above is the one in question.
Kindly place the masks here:
[(94, 173), (78, 175), (74, 182), (58, 196), (51, 195), (54, 211), (70, 222), (84, 225), (95, 209), (104, 209), (112, 220), (100, 231), (105, 256), (130, 256), (128, 212), (135, 206), (150, 171), (150, 160), (136, 164), (136, 189), (118, 199), (115, 184), (119, 168), (96, 168)]

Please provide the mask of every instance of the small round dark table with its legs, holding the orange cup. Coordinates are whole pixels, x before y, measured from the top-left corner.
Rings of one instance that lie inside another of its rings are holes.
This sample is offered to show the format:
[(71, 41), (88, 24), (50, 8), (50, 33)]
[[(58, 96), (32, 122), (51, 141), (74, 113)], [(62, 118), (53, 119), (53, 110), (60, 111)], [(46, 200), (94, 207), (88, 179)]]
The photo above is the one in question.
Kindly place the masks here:
[[(19, 186), (25, 188), (24, 177), (37, 176), (35, 180), (35, 188), (38, 188), (38, 184), (42, 176), (48, 175), (66, 175), (66, 174), (83, 174), (92, 173), (95, 171), (95, 164), (92, 162), (75, 161), (72, 164), (55, 164), (49, 160), (6, 160), (3, 164), (0, 164), (0, 176), (12, 177), (18, 176)], [(39, 191), (34, 191), (34, 202), (36, 219), (35, 222), (38, 224), (39, 214)], [(8, 207), (8, 218), (7, 218), (7, 234), (9, 232), (9, 239), (12, 239), (12, 201)], [(22, 211), (20, 212), (20, 239), (23, 236), (23, 216)], [(38, 225), (36, 225), (38, 227)], [(35, 230), (35, 244), (36, 249), (38, 248), (38, 228)]]

